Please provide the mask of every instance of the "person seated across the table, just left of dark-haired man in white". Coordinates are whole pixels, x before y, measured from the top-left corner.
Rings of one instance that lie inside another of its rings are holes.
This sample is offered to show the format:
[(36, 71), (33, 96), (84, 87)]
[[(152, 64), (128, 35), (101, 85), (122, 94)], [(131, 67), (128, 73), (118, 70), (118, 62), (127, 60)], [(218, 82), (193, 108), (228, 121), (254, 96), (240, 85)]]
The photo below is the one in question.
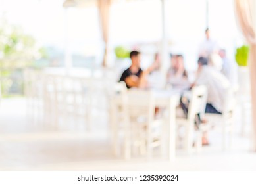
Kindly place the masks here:
[(167, 83), (172, 87), (188, 88), (190, 83), (188, 81), (188, 72), (184, 67), (184, 58), (182, 55), (172, 55), (171, 67), (167, 73)]

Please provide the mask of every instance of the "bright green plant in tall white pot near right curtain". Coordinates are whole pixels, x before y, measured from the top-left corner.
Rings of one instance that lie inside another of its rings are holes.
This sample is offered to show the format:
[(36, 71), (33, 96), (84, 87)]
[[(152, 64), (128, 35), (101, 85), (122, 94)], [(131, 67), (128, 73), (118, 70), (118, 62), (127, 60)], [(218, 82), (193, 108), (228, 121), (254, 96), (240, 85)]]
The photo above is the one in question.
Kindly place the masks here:
[(236, 49), (236, 63), (238, 64), (238, 85), (240, 86), (240, 92), (245, 94), (249, 93), (249, 46), (242, 45)]

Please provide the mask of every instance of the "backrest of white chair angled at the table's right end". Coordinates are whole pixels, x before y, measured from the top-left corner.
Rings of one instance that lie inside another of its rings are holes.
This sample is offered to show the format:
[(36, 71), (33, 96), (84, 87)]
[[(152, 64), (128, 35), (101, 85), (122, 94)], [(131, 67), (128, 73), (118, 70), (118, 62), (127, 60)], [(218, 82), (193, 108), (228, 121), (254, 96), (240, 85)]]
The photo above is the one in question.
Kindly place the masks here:
[(195, 121), (195, 115), (205, 114), (205, 106), (207, 103), (207, 87), (204, 85), (195, 86), (192, 89), (192, 98), (188, 107), (188, 119)]

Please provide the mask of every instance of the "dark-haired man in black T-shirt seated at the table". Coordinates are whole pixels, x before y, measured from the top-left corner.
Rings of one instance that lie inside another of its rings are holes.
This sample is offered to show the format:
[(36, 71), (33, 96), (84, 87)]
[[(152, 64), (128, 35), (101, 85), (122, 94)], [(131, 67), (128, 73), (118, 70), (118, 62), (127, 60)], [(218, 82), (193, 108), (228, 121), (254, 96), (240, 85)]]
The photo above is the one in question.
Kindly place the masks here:
[(130, 58), (132, 60), (132, 64), (129, 68), (124, 70), (120, 81), (124, 81), (128, 89), (131, 87), (146, 88), (147, 80), (145, 77), (154, 70), (155, 63), (153, 63), (153, 65), (147, 70), (143, 71), (140, 68), (140, 52), (132, 51), (130, 53)]

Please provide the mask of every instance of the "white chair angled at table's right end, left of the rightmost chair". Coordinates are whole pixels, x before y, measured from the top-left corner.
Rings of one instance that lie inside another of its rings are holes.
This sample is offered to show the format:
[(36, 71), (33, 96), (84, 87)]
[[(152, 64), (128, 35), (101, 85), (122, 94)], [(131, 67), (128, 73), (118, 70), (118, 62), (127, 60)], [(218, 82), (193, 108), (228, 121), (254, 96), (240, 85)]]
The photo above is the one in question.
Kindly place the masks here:
[(192, 150), (194, 135), (197, 135), (197, 139), (195, 141), (197, 150), (201, 149), (203, 131), (207, 131), (207, 126), (200, 124), (199, 129), (195, 129), (195, 116), (197, 116), (197, 114), (203, 116), (206, 102), (207, 88), (203, 85), (193, 87), (188, 106), (188, 117), (176, 119), (178, 130), (180, 127), (184, 127), (185, 129), (184, 137), (182, 139), (182, 147), (186, 152), (191, 152)]

